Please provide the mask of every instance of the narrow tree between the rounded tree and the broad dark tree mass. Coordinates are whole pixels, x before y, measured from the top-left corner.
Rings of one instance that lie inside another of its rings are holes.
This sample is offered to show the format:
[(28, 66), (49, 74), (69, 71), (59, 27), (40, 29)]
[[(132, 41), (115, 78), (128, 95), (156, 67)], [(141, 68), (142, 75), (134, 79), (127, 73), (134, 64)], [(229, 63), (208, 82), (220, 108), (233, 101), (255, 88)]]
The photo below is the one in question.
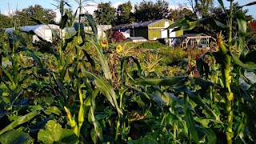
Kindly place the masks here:
[(131, 12), (131, 2), (122, 3), (117, 9), (116, 25), (134, 22), (134, 14)]

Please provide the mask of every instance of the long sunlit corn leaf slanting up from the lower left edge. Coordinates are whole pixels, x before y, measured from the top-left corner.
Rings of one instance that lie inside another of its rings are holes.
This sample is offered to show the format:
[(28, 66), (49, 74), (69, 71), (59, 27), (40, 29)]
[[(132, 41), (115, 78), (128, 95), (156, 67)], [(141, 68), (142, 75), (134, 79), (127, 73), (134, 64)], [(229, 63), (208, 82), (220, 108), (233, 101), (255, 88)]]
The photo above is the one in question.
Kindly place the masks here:
[(33, 111), (33, 112), (30, 112), (29, 114), (26, 114), (26, 115), (16, 119), (14, 122), (11, 122), (8, 126), (3, 128), (0, 131), (0, 135), (9, 131), (9, 130), (13, 130), (16, 126), (19, 126), (22, 123), (30, 121), (30, 119), (34, 118), (34, 116), (36, 116), (37, 114), (38, 114), (38, 111)]

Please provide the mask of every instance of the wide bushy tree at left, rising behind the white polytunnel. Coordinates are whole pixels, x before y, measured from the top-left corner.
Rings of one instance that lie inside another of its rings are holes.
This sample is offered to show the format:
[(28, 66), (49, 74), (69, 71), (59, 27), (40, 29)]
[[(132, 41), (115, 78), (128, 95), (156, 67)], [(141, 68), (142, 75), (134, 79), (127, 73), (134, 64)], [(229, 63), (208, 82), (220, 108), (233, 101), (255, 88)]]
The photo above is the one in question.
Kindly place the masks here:
[(45, 23), (55, 23), (56, 13), (54, 10), (44, 9), (40, 5), (29, 6), (26, 9), (15, 11), (14, 19), (20, 26), (36, 25), (36, 22), (30, 21), (35, 18)]

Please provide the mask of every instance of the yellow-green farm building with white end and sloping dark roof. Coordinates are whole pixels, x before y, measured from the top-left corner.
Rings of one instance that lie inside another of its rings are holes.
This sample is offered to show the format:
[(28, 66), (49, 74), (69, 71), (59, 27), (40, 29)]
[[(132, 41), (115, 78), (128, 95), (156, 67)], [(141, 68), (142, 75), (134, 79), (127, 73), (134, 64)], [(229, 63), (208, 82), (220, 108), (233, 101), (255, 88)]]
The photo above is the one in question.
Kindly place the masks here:
[(114, 26), (113, 30), (126, 32), (129, 30), (130, 37), (143, 37), (148, 40), (156, 40), (158, 38), (178, 37), (183, 34), (182, 30), (171, 32), (173, 29), (165, 30), (173, 21), (169, 19), (152, 20), (148, 22), (134, 22), (130, 24), (122, 24)]

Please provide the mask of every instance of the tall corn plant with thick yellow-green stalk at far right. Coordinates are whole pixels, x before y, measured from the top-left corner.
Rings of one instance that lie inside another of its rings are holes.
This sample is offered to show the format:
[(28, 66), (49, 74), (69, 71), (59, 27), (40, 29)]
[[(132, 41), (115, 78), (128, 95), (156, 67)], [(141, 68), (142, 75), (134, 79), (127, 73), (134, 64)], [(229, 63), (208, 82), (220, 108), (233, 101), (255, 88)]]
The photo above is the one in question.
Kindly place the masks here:
[[(225, 110), (226, 113), (223, 115), (226, 115), (226, 125), (223, 127), (226, 130), (226, 142), (227, 143), (232, 143), (235, 139), (238, 139), (237, 137), (234, 137), (234, 134), (237, 134), (234, 131), (234, 107), (236, 106), (235, 100), (238, 100), (240, 102), (242, 99), (242, 95), (235, 94), (234, 89), (232, 88), (233, 86), (239, 86), (239, 81), (234, 80), (234, 79), (239, 79), (240, 70), (250, 70), (254, 72), (252, 69), (254, 65), (249, 65), (249, 64), (244, 64), (239, 60), (239, 58), (243, 58), (245, 55), (245, 51), (243, 50), (244, 42), (245, 42), (245, 36), (246, 36), (246, 19), (242, 13), (239, 13), (238, 10), (241, 9), (243, 6), (233, 6), (233, 1), (230, 1), (230, 10), (226, 10), (223, 6), (222, 0), (218, 0), (220, 5), (222, 6), (222, 9), (227, 11), (228, 13), (228, 26), (217, 22), (214, 20), (213, 25), (221, 26), (224, 29), (228, 30), (228, 39), (227, 39), (227, 44), (223, 42), (222, 40), (222, 33), (218, 35), (218, 52), (215, 53), (206, 53), (214, 56), (216, 62), (220, 65), (220, 73), (221, 77), (217, 76), (218, 81), (221, 82), (220, 86), (222, 86), (222, 89), (220, 90), (220, 96), (224, 98), (224, 103), (225, 103)], [(249, 4), (246, 4), (244, 6), (251, 6), (254, 5), (256, 2), (250, 2)], [(234, 45), (235, 42), (232, 42), (232, 38), (234, 37), (232, 35), (232, 23), (233, 23), (233, 18), (237, 18), (238, 20), (238, 35), (239, 37), (237, 38), (237, 45)], [(209, 20), (209, 21), (208, 21)], [(182, 19), (180, 22), (174, 23), (173, 26), (178, 26), (177, 29), (182, 29), (182, 30), (191, 30), (196, 26), (198, 22), (203, 22), (203, 21), (208, 21), (208, 22), (213, 22), (212, 19), (206, 18), (198, 21), (192, 21), (190, 22), (189, 20), (186, 20), (185, 18)], [(170, 28), (169, 27), (169, 28)], [(198, 66), (198, 72), (199, 74), (206, 74), (206, 79), (208, 78), (208, 74), (210, 72), (210, 68), (208, 66), (208, 63), (203, 60), (205, 55), (202, 55), (201, 58), (198, 59), (197, 61), (197, 66)], [(245, 59), (244, 59), (245, 60)], [(245, 60), (246, 61), (246, 60)], [(234, 65), (235, 64), (235, 65)], [(234, 76), (235, 74), (238, 74), (237, 76)], [(216, 81), (215, 81), (216, 82)], [(217, 87), (214, 87), (214, 89), (218, 89)], [(212, 91), (210, 92), (212, 94)], [(216, 94), (214, 92), (214, 94)], [(238, 98), (234, 98), (234, 95), (239, 95)], [(243, 99), (244, 100), (244, 99)], [(242, 100), (242, 101), (243, 101)], [(220, 102), (220, 101), (219, 101)], [(240, 103), (243, 105), (242, 103)], [(254, 106), (254, 104), (252, 104)], [(245, 138), (239, 136), (243, 142), (245, 142)], [(194, 136), (196, 138), (196, 136)], [(196, 140), (198, 141), (198, 140)]]

